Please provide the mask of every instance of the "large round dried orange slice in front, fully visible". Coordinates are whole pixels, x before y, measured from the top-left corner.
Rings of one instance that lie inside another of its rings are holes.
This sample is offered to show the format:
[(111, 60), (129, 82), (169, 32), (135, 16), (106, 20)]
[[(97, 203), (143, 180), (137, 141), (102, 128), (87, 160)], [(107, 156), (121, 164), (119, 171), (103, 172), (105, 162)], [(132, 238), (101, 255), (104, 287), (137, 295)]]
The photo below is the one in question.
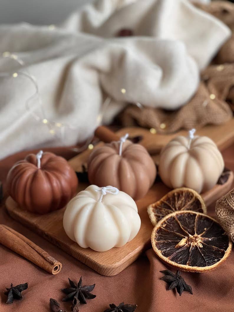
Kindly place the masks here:
[(211, 217), (176, 211), (154, 227), (151, 236), (157, 256), (182, 271), (205, 272), (219, 266), (232, 250), (232, 241)]

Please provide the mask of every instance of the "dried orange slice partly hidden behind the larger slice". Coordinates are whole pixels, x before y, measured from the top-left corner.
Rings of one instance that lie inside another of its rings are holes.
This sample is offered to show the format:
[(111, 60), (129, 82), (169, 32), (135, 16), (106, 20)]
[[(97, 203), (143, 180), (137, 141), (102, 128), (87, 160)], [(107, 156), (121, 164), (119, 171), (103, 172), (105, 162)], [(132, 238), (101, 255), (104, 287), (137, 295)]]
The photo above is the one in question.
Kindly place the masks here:
[(176, 188), (157, 202), (149, 205), (147, 209), (149, 218), (154, 226), (169, 213), (182, 210), (207, 213), (202, 197), (191, 188)]

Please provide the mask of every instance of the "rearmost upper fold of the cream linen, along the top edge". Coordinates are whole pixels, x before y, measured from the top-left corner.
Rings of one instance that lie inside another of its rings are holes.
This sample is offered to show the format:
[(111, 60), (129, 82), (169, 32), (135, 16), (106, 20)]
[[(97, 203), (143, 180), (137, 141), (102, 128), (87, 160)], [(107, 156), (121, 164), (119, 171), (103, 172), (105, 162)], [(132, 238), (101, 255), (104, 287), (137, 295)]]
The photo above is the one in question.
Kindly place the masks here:
[(73, 13), (62, 27), (106, 38), (130, 28), (135, 36), (183, 41), (200, 69), (231, 36), (225, 24), (187, 0), (98, 0)]

